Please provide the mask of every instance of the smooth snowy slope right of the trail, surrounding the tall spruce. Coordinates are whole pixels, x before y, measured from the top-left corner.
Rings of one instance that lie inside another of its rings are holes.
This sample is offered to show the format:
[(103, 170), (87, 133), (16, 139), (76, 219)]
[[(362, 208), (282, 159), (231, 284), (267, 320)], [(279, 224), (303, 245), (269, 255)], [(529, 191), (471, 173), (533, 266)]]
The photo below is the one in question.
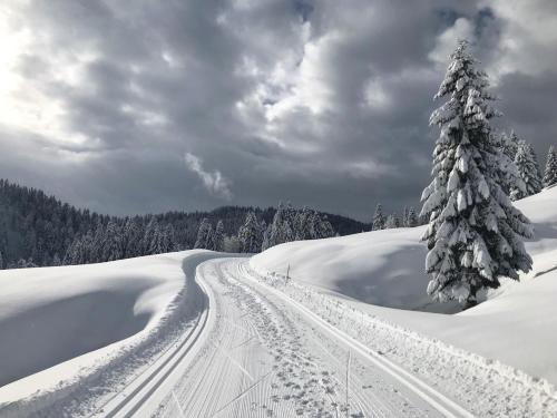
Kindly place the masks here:
[(255, 255), (251, 265), (263, 275), (284, 275), (290, 264), (300, 285), (557, 385), (557, 187), (517, 205), (535, 224), (536, 237), (527, 243), (534, 270), (457, 314), (431, 313), (443, 307), (428, 304), (426, 249), (418, 241), (423, 227), (283, 244)]

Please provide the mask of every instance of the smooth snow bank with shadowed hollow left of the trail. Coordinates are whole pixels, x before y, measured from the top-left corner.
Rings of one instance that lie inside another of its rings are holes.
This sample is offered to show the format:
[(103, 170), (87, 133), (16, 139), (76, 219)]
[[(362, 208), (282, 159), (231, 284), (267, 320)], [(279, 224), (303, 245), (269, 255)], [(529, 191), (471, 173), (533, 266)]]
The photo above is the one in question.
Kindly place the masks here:
[(0, 404), (71, 386), (129, 353), (168, 319), (183, 262), (197, 253), (211, 254), (0, 271)]

